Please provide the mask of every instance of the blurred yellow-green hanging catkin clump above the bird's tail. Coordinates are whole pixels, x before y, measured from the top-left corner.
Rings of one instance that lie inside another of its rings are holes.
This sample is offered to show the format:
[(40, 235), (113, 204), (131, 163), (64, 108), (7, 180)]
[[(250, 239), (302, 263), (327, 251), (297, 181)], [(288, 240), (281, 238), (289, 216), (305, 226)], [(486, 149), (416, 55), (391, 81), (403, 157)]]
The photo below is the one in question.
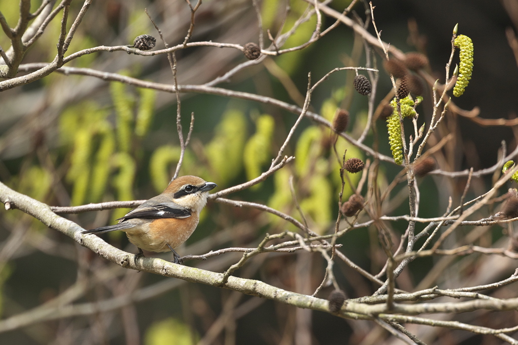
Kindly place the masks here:
[[(66, 178), (73, 184), (72, 205), (102, 201), (109, 183), (119, 200), (133, 199), (138, 160), (133, 145), (135, 138), (149, 131), (155, 92), (139, 90), (131, 95), (126, 85), (118, 82), (111, 83), (110, 91), (117, 129), (109, 121), (109, 109), (93, 101), (71, 106), (61, 114), (61, 144), (71, 147)], [(117, 210), (116, 215), (122, 217), (126, 211)]]

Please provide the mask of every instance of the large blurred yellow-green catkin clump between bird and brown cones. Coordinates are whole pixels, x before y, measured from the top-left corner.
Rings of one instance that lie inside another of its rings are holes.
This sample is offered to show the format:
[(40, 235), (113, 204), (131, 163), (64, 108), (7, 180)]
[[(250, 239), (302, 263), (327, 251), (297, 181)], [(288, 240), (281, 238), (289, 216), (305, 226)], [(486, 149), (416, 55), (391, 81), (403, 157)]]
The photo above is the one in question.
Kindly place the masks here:
[[(321, 107), (320, 114), (329, 121), (338, 108), (339, 97), (343, 91), (335, 92), (332, 97), (326, 99)], [(329, 148), (334, 145), (334, 149)], [(356, 147), (337, 137), (329, 128), (309, 126), (299, 136), (295, 146), (294, 178), (299, 181), (297, 199), (301, 210), (311, 217), (310, 226), (315, 232), (324, 233), (329, 229), (333, 219), (334, 205), (338, 209), (338, 192), (341, 189), (342, 180), (340, 168), (342, 155), (346, 157), (358, 157), (363, 159), (363, 154)], [(339, 163), (340, 161), (340, 163)], [(347, 172), (346, 172), (347, 174)], [(268, 206), (284, 211), (301, 220), (298, 213), (293, 213), (293, 198), (287, 187), (290, 174), (281, 170), (275, 176), (275, 192), (268, 201)], [(358, 174), (349, 174), (353, 185), (357, 184)], [(346, 180), (343, 197), (348, 198), (353, 191)], [(272, 217), (272, 221), (280, 222), (279, 218)]]

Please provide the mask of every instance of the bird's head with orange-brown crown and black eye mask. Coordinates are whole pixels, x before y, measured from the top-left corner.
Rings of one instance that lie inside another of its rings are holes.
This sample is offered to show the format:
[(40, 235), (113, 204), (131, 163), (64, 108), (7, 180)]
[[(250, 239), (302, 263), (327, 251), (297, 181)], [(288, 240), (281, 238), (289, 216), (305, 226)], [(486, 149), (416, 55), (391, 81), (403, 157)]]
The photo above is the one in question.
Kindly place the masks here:
[(192, 211), (200, 212), (207, 204), (209, 191), (216, 186), (217, 184), (206, 182), (196, 176), (180, 176), (169, 183), (164, 194), (170, 196), (172, 202)]

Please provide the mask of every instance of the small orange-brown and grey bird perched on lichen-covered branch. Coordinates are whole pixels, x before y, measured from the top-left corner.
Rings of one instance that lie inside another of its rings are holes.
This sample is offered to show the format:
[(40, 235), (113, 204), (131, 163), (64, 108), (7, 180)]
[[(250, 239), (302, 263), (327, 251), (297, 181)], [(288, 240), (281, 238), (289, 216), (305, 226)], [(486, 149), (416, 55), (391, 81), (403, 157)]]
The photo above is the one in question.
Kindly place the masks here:
[(119, 218), (115, 225), (84, 230), (82, 234), (103, 234), (123, 231), (128, 240), (138, 248), (151, 252), (171, 251), (174, 263), (181, 259), (175, 248), (182, 245), (194, 232), (199, 222), (199, 212), (207, 204), (209, 191), (217, 187), (197, 176), (181, 176), (171, 181), (159, 195)]

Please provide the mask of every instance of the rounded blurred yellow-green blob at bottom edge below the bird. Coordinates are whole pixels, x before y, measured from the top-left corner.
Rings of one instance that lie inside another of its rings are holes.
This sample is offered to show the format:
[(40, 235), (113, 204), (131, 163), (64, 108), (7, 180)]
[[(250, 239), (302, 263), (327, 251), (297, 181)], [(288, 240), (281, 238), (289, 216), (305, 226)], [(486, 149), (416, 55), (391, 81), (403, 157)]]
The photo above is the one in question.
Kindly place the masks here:
[[(196, 338), (198, 338), (196, 336)], [(192, 339), (188, 325), (173, 318), (154, 322), (147, 330), (145, 345), (192, 345), (197, 339)]]

